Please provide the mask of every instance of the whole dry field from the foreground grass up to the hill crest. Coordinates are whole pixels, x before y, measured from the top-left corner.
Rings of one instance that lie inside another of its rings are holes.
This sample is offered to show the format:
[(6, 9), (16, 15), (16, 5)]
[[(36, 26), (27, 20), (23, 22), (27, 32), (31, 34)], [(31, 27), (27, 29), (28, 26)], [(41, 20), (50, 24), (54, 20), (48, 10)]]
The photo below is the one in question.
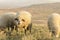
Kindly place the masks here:
[(10, 11), (21, 11), (26, 10), (32, 14), (32, 33), (27, 31), (25, 35), (24, 32), (18, 32), (18, 34), (13, 31), (11, 36), (6, 36), (3, 32), (0, 33), (0, 40), (60, 40), (60, 38), (55, 38), (50, 36), (48, 30), (47, 19), (52, 13), (60, 13), (60, 3), (51, 4), (41, 4), (32, 5), (29, 7), (17, 8), (17, 9), (1, 9), (0, 13), (10, 12)]

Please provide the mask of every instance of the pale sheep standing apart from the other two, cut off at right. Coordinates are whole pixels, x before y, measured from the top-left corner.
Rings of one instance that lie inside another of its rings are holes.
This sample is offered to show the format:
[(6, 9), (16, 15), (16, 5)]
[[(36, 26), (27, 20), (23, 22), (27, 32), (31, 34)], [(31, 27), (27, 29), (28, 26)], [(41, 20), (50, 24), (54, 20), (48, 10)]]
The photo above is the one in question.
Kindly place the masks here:
[(58, 13), (53, 13), (48, 18), (48, 28), (49, 31), (55, 37), (59, 37), (60, 33), (60, 15)]

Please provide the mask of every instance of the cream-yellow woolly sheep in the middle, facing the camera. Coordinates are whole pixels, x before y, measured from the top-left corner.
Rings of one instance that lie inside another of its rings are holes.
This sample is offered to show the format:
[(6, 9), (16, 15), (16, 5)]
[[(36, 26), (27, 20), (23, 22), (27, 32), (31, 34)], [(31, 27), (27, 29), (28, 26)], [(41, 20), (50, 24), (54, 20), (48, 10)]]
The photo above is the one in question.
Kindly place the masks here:
[(19, 13), (18, 19), (20, 21), (20, 25), (18, 25), (18, 28), (24, 29), (25, 34), (26, 34), (27, 30), (29, 30), (29, 32), (31, 33), (31, 28), (32, 28), (31, 13), (29, 13), (27, 11), (20, 11), (18, 13)]

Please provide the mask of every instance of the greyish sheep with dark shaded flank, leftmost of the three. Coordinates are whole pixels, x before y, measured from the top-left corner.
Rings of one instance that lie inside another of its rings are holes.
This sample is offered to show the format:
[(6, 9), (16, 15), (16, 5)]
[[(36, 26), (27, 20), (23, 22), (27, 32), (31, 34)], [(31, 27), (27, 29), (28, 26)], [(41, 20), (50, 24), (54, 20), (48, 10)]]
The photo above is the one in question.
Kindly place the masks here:
[(20, 21), (17, 18), (17, 13), (15, 12), (7, 12), (0, 15), (0, 29), (2, 31), (5, 31), (6, 28), (11, 28), (11, 31), (13, 31), (14, 27), (15, 30), (18, 31), (17, 25), (20, 23)]

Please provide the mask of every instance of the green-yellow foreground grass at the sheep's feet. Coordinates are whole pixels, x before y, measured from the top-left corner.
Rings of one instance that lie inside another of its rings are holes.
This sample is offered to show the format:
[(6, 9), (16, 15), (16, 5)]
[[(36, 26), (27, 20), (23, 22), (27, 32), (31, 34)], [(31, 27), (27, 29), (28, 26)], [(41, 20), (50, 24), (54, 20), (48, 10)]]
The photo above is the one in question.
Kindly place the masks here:
[(49, 30), (47, 26), (43, 26), (42, 24), (33, 24), (32, 33), (30, 34), (27, 31), (25, 35), (24, 32), (13, 31), (11, 35), (0, 33), (0, 40), (59, 40), (60, 38), (51, 37), (49, 35)]

